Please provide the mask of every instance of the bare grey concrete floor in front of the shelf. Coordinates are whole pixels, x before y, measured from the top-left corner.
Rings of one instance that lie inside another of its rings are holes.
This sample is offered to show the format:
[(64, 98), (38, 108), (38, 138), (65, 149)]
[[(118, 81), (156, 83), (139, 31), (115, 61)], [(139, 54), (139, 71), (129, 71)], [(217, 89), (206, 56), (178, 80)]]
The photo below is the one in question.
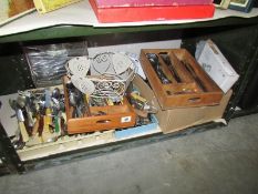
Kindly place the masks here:
[(258, 114), (227, 127), (0, 177), (1, 194), (258, 193)]

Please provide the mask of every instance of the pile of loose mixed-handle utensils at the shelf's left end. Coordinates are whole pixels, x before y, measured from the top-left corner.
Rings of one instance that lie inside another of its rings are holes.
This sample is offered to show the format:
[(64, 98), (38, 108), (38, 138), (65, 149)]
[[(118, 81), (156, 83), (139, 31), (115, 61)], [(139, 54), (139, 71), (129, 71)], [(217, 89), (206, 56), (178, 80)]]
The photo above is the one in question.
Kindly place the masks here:
[(65, 134), (65, 105), (60, 88), (19, 91), (9, 100), (16, 111), (18, 132), (12, 139), (16, 149), (54, 142)]

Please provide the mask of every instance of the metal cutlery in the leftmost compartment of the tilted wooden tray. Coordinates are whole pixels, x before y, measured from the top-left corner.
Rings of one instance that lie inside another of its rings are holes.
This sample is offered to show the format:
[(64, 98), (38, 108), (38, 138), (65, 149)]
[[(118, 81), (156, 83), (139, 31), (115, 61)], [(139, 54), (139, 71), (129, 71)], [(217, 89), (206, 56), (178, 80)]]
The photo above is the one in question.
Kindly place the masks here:
[(157, 73), (158, 79), (163, 84), (172, 83), (171, 80), (167, 79), (166, 74), (163, 72), (161, 68), (161, 63), (158, 62), (158, 57), (155, 53), (147, 53), (147, 59), (152, 63), (152, 67), (154, 68), (155, 72)]

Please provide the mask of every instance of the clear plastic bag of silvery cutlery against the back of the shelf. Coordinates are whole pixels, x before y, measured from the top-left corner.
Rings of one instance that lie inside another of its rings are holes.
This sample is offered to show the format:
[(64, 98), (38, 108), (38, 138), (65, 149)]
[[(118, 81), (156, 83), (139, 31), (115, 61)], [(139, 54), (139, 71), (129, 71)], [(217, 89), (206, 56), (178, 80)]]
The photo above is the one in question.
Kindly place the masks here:
[(61, 83), (66, 74), (65, 63), (74, 58), (87, 55), (85, 41), (30, 45), (23, 48), (31, 75), (37, 88), (51, 86)]

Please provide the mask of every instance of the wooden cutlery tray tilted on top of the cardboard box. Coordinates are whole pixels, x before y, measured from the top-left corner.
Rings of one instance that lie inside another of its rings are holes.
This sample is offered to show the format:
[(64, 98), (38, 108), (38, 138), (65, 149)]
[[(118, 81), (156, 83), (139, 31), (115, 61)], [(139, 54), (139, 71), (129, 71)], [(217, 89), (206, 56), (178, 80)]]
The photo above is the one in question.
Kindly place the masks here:
[[(154, 64), (146, 57), (149, 53), (157, 57), (159, 72), (169, 82), (161, 81)], [(168, 62), (162, 59), (164, 53)], [(144, 49), (141, 63), (163, 110), (215, 105), (223, 98), (219, 86), (185, 49)]]

